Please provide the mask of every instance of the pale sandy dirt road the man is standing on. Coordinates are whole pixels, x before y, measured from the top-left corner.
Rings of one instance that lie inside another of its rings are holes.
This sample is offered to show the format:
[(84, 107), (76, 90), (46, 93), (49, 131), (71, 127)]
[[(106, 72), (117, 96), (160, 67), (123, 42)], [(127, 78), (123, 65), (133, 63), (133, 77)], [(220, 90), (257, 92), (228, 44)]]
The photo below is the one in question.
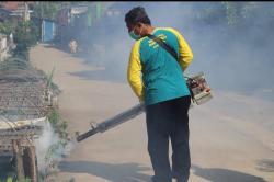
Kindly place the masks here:
[[(60, 113), (69, 132), (85, 132), (138, 101), (126, 83), (83, 79), (73, 73), (100, 71), (69, 54), (38, 45), (31, 61), (50, 72), (61, 89)], [(125, 60), (127, 61), (127, 60)], [(125, 73), (126, 77), (126, 73)], [(230, 92), (190, 111), (191, 182), (274, 181), (274, 103)], [(60, 163), (59, 181), (149, 182), (145, 114), (75, 146)]]

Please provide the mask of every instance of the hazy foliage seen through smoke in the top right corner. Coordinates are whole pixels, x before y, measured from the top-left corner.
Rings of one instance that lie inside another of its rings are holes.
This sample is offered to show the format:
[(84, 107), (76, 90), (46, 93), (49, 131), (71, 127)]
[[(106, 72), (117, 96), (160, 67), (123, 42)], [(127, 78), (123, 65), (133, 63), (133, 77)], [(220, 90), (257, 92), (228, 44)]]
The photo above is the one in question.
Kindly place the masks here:
[(271, 16), (274, 20), (274, 3), (249, 1), (203, 2), (196, 5), (194, 19), (209, 23), (224, 23), (237, 27), (243, 22), (252, 22), (258, 15)]

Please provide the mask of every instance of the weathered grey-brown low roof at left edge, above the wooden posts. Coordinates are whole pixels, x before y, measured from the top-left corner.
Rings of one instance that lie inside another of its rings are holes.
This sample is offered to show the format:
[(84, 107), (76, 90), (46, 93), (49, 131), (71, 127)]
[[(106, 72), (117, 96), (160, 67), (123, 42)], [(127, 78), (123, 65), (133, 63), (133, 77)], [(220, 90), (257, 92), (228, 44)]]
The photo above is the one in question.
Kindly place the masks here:
[(44, 117), (46, 81), (25, 60), (12, 58), (0, 62), (0, 115), (14, 122)]

